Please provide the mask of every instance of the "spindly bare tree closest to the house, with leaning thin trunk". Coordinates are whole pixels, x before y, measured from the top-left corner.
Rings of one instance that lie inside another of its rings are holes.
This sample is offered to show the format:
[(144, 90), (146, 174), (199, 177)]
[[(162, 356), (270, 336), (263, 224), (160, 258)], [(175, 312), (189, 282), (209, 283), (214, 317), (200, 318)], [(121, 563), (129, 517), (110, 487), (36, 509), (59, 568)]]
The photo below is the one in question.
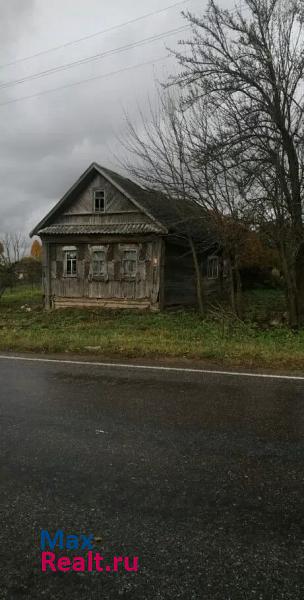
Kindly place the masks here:
[[(209, 221), (194, 193), (189, 169), (187, 121), (180, 110), (180, 99), (173, 94), (160, 94), (157, 109), (150, 106), (150, 118), (141, 114), (140, 131), (127, 117), (128, 142), (132, 163), (124, 167), (146, 188), (162, 194), (164, 208), (174, 205), (176, 219), (168, 225), (178, 226), (178, 235), (189, 246), (196, 274), (197, 301), (201, 314), (205, 311), (200, 254), (214, 248), (215, 239)], [(135, 161), (134, 161), (135, 158)]]

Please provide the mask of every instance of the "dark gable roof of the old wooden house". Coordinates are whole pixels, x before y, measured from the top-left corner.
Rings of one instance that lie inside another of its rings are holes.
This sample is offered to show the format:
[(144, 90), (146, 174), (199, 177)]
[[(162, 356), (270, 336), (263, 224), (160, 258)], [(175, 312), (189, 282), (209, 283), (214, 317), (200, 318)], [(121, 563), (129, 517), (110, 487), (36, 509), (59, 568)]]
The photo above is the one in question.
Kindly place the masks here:
[[(196, 202), (173, 199), (160, 192), (144, 189), (127, 177), (102, 167), (97, 163), (92, 163), (88, 167), (61, 200), (34, 227), (30, 236), (39, 235), (39, 232), (51, 233), (50, 229), (55, 227), (55, 225), (52, 225), (52, 218), (85, 189), (96, 173), (102, 175), (140, 211), (144, 212), (152, 221), (151, 227), (155, 232), (163, 234), (175, 232), (179, 235), (185, 235), (186, 230), (190, 229), (191, 234), (194, 234), (195, 237), (201, 237), (201, 221), (202, 219), (205, 220), (206, 215)], [(187, 215), (186, 218), (185, 215)], [(73, 226), (73, 231), (74, 229)]]

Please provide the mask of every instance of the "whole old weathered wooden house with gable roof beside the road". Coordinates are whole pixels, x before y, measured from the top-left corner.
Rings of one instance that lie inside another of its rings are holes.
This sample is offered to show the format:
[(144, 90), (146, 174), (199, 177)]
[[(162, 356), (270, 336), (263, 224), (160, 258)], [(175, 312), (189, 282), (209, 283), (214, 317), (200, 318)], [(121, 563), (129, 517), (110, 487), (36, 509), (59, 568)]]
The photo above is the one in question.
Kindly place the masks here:
[[(93, 163), (33, 229), (43, 244), (46, 308), (160, 310), (196, 303), (188, 238), (202, 209), (143, 189)], [(219, 261), (206, 234), (199, 260), (209, 287)]]

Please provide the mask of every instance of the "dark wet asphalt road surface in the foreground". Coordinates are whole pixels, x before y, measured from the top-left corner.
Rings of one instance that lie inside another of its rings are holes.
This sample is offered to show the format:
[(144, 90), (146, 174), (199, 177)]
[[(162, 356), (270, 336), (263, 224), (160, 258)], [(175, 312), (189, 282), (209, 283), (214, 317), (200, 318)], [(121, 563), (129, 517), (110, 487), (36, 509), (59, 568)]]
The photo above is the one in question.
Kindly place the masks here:
[[(304, 382), (0, 358), (0, 424), (0, 598), (304, 597)], [(139, 570), (42, 573), (42, 529)]]

